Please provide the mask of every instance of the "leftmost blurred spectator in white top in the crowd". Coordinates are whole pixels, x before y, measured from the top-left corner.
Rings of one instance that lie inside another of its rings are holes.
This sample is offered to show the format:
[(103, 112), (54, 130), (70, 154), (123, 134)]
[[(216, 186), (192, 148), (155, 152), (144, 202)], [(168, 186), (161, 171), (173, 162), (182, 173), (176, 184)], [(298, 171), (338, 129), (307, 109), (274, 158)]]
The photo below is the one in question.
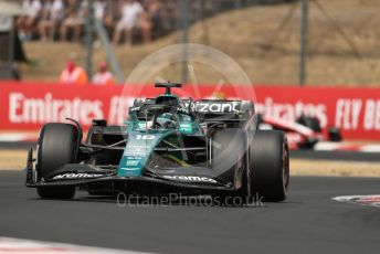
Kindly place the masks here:
[(22, 10), (25, 15), (18, 19), (18, 30), (21, 40), (31, 40), (32, 31), (36, 25), (40, 17), (42, 4), (40, 0), (23, 0)]

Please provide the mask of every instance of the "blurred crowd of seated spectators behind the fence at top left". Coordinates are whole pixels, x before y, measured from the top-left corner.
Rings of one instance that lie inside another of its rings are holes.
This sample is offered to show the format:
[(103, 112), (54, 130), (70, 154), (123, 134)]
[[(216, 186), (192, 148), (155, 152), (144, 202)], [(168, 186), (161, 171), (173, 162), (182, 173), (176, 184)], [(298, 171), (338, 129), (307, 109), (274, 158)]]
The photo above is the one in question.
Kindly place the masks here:
[[(19, 0), (24, 15), (17, 27), (21, 40), (80, 41), (88, 13), (85, 0)], [(178, 28), (179, 0), (94, 0), (94, 15), (115, 44), (149, 42)], [(191, 0), (190, 19), (210, 15), (220, 0)]]

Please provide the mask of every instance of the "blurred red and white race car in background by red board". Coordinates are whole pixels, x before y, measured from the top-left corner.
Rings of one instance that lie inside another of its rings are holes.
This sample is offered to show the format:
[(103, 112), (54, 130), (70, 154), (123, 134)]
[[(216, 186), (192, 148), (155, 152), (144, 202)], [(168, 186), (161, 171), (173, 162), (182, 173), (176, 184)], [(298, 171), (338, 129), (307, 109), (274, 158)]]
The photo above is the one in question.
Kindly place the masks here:
[(319, 141), (341, 141), (340, 130), (336, 127), (323, 129), (316, 117), (300, 116), (296, 121), (258, 115), (260, 129), (278, 129), (286, 133), (289, 149), (313, 149)]

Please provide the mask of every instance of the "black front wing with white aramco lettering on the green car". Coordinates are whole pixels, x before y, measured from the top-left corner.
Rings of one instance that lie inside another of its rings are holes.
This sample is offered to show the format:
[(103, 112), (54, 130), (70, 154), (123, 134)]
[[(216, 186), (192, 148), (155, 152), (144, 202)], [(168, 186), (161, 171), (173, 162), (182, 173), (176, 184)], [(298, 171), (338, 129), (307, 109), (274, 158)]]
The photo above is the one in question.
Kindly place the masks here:
[[(75, 168), (75, 169), (74, 169)], [(178, 170), (181, 170), (178, 168)], [(191, 181), (196, 178), (196, 180), (205, 180), (202, 182)], [(65, 165), (60, 169), (55, 170), (48, 179), (40, 179), (36, 178), (36, 171), (33, 167), (33, 160), (31, 151), (28, 156), (28, 165), (27, 165), (27, 182), (25, 186), (30, 188), (38, 188), (38, 187), (80, 187), (83, 189), (96, 188), (98, 187), (107, 187), (110, 192), (115, 191), (127, 191), (129, 187), (136, 189), (136, 187), (150, 187), (155, 188), (162, 188), (169, 189), (175, 191), (188, 190), (188, 191), (234, 191), (234, 184), (229, 182), (222, 182), (212, 179), (213, 181), (208, 181), (207, 179), (211, 179), (208, 177), (187, 177), (187, 176), (176, 176), (171, 174), (155, 174), (155, 173), (146, 173), (145, 176), (140, 177), (118, 177), (112, 170), (104, 170), (96, 168), (91, 165)], [(187, 180), (187, 181), (183, 181)], [(188, 181), (190, 180), (190, 181)]]

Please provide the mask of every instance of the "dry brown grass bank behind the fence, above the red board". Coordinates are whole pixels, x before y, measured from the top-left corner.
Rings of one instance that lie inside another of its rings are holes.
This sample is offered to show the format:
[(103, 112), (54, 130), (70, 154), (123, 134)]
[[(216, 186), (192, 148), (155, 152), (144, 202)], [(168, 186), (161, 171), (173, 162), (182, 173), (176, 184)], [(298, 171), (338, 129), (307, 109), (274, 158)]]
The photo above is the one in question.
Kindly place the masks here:
[[(319, 0), (342, 29), (362, 57), (334, 29), (310, 1), (308, 84), (380, 86), (380, 1)], [(298, 4), (298, 3), (296, 3)], [(262, 6), (231, 11), (192, 25), (190, 41), (219, 49), (232, 56), (255, 84), (296, 84), (298, 72), (299, 7), (288, 25), (279, 23), (292, 4)], [(151, 44), (133, 47), (117, 46), (117, 59), (125, 76), (149, 53), (180, 42), (175, 33)], [(55, 81), (68, 55), (75, 53), (83, 64), (85, 50), (75, 43), (25, 43), (34, 66), (23, 66), (25, 80)], [(272, 49), (268, 51), (267, 49)], [(95, 61), (104, 57), (96, 49)], [(217, 84), (224, 78), (202, 64), (193, 63), (199, 83)], [(150, 76), (179, 81), (180, 66), (172, 65)]]

